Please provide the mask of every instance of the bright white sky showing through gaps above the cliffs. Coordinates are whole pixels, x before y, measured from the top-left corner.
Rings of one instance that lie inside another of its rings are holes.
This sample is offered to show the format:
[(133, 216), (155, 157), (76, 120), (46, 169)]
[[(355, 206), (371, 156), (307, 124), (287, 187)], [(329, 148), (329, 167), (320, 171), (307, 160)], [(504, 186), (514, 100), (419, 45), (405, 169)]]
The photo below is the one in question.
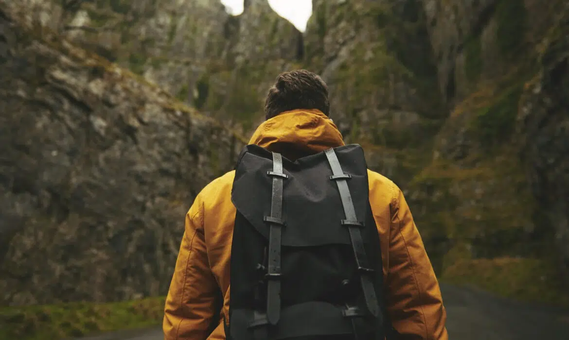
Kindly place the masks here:
[[(312, 14), (311, 0), (268, 0), (275, 12), (290, 21), (299, 31), (306, 30), (306, 22)], [(221, 0), (229, 7), (230, 13), (238, 15), (243, 12), (243, 0)]]

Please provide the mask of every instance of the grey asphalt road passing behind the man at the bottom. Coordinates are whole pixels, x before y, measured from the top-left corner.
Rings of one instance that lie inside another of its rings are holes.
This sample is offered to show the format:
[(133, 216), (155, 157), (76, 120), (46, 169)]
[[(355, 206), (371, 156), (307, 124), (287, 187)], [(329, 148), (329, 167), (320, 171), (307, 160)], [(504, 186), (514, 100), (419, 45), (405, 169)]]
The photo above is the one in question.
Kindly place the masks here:
[[(441, 284), (451, 340), (568, 340), (569, 311), (510, 301)], [(162, 340), (160, 329), (109, 333), (81, 340)]]

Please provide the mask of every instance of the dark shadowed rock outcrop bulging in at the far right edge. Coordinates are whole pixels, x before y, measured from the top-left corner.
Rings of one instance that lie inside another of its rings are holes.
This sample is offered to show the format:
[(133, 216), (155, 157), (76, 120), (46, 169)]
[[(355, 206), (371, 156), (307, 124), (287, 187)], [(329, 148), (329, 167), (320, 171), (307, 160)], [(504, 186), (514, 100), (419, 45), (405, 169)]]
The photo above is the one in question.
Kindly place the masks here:
[(569, 277), (569, 6), (560, 13), (521, 99), (517, 131), (529, 184)]

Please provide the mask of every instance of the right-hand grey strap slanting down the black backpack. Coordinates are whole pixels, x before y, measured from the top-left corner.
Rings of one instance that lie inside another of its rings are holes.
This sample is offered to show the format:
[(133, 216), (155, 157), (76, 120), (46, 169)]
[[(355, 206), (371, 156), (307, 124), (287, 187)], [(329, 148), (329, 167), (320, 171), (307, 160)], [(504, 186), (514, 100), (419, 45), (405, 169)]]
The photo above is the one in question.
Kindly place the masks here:
[(326, 150), (325, 154), (333, 173), (333, 175), (330, 176), (330, 180), (336, 181), (342, 205), (344, 206), (346, 219), (343, 219), (341, 223), (348, 227), (358, 271), (360, 272), (361, 288), (364, 292), (365, 303), (368, 306), (369, 312), (372, 313), (374, 317), (377, 317), (380, 313), (380, 307), (377, 302), (376, 291), (371, 277), (374, 273), (374, 269), (369, 266), (368, 257), (365, 254), (364, 240), (361, 237), (360, 230), (360, 228), (364, 226), (364, 223), (357, 220), (352, 195), (348, 188), (347, 179), (350, 179), (352, 176), (342, 171), (340, 161), (333, 149)]

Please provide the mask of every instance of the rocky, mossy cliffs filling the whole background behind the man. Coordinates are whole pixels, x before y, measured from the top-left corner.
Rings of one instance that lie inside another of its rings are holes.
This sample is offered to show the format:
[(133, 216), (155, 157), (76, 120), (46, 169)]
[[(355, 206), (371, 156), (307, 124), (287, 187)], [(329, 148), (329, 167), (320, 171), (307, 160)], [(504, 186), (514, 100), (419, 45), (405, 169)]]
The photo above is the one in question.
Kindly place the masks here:
[(238, 16), (215, 0), (0, 4), (3, 301), (164, 293), (180, 216), (298, 67), (323, 76), (347, 142), (404, 190), (439, 277), (558, 296), (565, 1), (314, 0), (304, 35), (264, 0)]

